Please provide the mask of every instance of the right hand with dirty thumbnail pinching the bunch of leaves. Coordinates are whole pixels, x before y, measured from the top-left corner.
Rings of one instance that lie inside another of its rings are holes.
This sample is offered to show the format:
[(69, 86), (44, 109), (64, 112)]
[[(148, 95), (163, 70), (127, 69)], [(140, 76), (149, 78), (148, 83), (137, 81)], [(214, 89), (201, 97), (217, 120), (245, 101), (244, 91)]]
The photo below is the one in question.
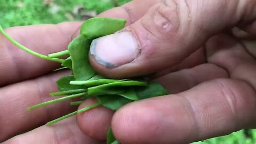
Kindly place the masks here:
[(77, 116), (81, 130), (105, 139), (111, 121), (121, 143), (189, 143), (254, 128), (255, 7), (254, 0), (140, 0), (103, 13), (128, 23), (94, 41), (94, 68), (113, 78), (157, 73), (171, 94), (115, 114), (86, 111)]

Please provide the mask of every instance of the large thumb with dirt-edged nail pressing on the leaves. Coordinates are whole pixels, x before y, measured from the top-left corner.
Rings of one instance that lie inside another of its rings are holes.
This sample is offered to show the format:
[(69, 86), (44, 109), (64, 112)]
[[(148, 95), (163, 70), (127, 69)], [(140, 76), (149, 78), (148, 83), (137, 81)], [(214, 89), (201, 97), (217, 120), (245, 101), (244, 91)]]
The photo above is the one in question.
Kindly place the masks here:
[(153, 74), (195, 52), (211, 36), (256, 18), (255, 0), (162, 1), (132, 25), (94, 39), (90, 61), (112, 78)]

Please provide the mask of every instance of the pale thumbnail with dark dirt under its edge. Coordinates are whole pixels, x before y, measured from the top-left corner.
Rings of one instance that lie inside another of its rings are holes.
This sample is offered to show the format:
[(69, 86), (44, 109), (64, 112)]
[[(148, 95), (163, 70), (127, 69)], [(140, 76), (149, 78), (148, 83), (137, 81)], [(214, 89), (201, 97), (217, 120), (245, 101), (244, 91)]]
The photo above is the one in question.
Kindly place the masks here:
[(139, 53), (137, 39), (130, 31), (94, 39), (90, 54), (101, 65), (115, 68), (132, 62)]

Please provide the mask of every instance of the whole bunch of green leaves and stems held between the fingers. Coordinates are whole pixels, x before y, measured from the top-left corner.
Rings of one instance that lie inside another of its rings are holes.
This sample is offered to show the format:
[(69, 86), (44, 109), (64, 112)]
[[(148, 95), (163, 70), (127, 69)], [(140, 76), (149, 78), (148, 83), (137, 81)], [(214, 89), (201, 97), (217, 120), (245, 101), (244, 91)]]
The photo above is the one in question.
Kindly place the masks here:
[[(59, 92), (50, 94), (51, 96), (63, 97), (39, 103), (38, 105), (29, 107), (28, 109), (33, 110), (35, 108), (73, 98), (78, 99), (78, 101), (71, 102), (71, 106), (80, 105), (89, 98), (96, 98), (98, 100), (98, 103), (79, 109), (73, 113), (47, 123), (47, 125), (51, 125), (61, 121), (62, 119), (74, 116), (95, 107), (103, 106), (115, 111), (133, 101), (167, 94), (167, 91), (162, 85), (150, 82), (146, 78), (109, 79), (97, 74), (90, 65), (89, 50), (93, 39), (113, 34), (124, 28), (125, 23), (126, 21), (123, 19), (89, 19), (81, 26), (81, 35), (73, 39), (73, 41), (68, 45), (67, 50), (49, 55), (36, 53), (19, 44), (8, 36), (0, 26), (0, 32), (13, 44), (39, 58), (60, 62), (62, 68), (57, 70), (68, 68), (73, 72), (72, 75), (64, 76), (57, 81)], [(63, 56), (69, 57), (67, 59), (60, 59), (60, 57)], [(111, 131), (111, 127), (107, 134), (107, 143), (119, 143), (115, 139)]]

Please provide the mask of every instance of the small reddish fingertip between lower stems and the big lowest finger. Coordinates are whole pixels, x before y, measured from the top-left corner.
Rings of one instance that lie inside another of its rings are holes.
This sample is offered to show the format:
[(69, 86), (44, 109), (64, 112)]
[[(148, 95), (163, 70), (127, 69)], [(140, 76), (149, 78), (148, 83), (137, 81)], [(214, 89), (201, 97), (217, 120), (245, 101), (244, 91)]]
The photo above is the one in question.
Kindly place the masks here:
[[(88, 99), (78, 109), (98, 103), (96, 99)], [(97, 107), (77, 115), (80, 130), (91, 138), (105, 140), (114, 111), (105, 107)]]

